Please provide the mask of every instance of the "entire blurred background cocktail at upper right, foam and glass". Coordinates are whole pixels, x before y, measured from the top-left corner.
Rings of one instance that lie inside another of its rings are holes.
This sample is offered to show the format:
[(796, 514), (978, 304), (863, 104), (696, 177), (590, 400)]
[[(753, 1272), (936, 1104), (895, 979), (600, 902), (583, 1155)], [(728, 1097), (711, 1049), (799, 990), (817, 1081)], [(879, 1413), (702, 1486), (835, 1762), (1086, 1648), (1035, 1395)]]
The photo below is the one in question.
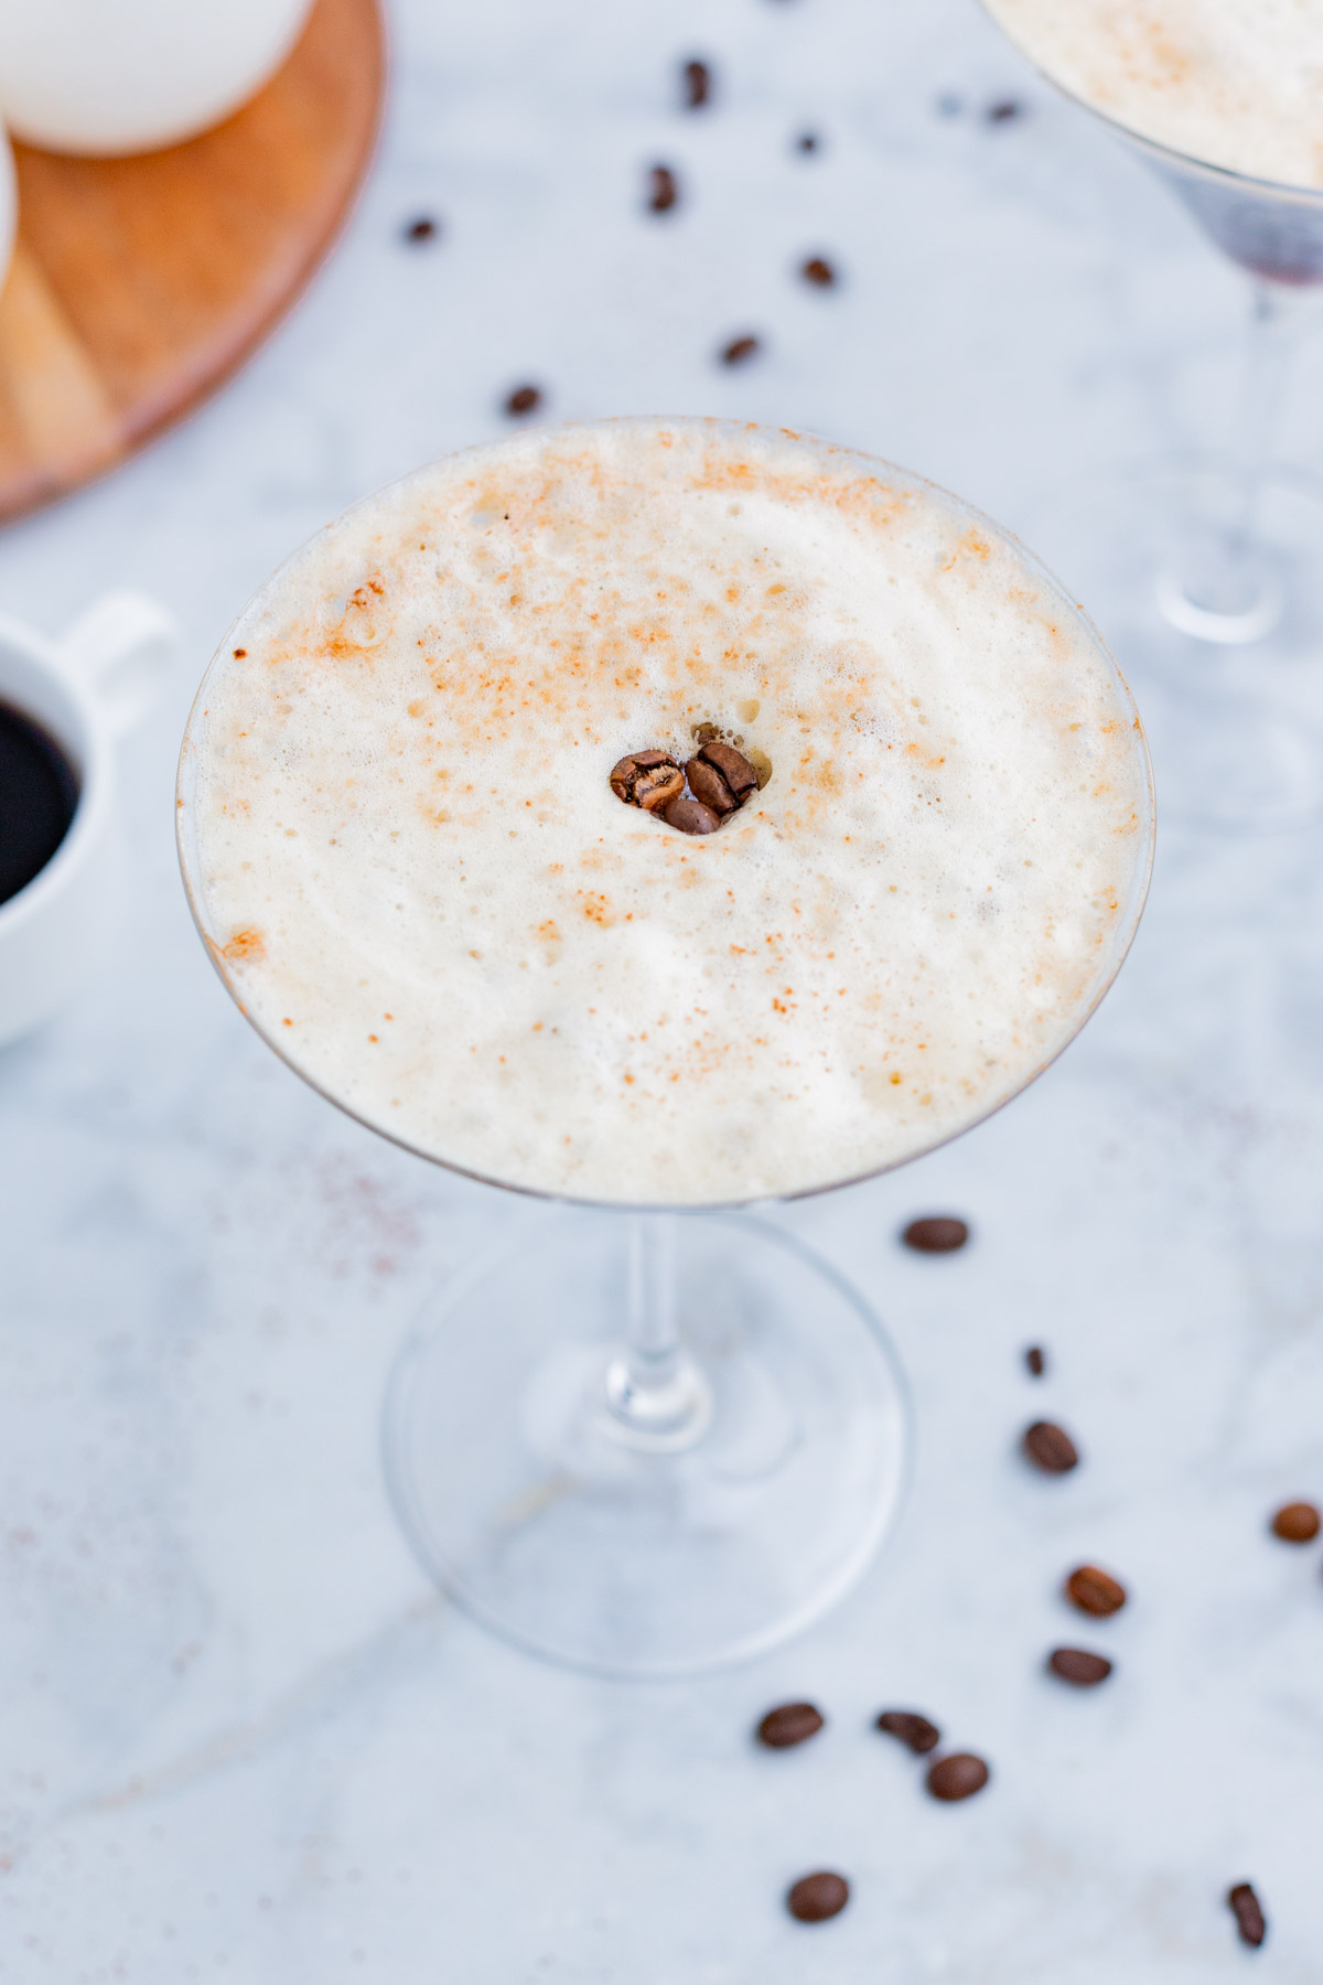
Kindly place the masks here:
[(1323, 282), (1323, 0), (984, 0), (1252, 282), (1238, 405), (1212, 449), (1121, 463), (1033, 518), (1133, 671), (1178, 818), (1323, 814), (1323, 486), (1273, 459)]

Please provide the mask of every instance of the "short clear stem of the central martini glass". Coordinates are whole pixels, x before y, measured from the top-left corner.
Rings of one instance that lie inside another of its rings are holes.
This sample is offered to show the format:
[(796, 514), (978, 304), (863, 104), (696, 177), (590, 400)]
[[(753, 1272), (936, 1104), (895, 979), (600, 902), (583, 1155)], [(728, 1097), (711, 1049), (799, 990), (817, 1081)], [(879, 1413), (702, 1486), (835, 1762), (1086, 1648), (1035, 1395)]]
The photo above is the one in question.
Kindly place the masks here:
[(676, 1217), (629, 1215), (625, 1342), (607, 1364), (607, 1413), (631, 1447), (676, 1449), (702, 1439), (712, 1391), (680, 1342)]

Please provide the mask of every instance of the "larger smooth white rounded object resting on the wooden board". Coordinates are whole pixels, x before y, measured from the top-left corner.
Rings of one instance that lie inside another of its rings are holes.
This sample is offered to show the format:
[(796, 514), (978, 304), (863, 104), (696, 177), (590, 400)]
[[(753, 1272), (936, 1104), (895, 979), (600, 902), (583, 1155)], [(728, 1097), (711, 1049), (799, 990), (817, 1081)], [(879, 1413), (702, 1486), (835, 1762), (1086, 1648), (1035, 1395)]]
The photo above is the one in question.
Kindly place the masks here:
[(0, 0), (0, 117), (48, 151), (177, 145), (280, 67), (311, 0)]

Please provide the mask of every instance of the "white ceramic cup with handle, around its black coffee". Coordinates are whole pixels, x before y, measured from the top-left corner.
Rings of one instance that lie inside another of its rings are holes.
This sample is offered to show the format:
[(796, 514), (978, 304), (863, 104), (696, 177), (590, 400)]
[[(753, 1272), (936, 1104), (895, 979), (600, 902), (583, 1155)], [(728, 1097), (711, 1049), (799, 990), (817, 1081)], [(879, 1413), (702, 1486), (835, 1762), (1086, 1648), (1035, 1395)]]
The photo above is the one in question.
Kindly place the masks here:
[(0, 1044), (67, 1006), (91, 981), (115, 917), (115, 746), (157, 699), (177, 621), (145, 594), (107, 594), (60, 641), (0, 615), (0, 703), (42, 727), (77, 776), (60, 848), (0, 903)]

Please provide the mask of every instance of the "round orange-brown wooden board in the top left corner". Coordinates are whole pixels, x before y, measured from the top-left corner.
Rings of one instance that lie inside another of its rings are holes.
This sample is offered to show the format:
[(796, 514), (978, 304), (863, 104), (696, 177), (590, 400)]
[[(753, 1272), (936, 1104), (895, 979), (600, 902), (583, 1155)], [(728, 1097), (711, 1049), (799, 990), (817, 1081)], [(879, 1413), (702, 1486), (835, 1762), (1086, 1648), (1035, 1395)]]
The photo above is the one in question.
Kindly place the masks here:
[(266, 89), (186, 145), (137, 159), (14, 147), (0, 520), (113, 468), (248, 357), (349, 210), (383, 85), (377, 0), (317, 0)]

